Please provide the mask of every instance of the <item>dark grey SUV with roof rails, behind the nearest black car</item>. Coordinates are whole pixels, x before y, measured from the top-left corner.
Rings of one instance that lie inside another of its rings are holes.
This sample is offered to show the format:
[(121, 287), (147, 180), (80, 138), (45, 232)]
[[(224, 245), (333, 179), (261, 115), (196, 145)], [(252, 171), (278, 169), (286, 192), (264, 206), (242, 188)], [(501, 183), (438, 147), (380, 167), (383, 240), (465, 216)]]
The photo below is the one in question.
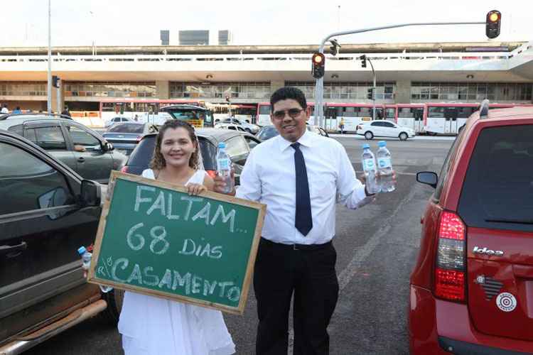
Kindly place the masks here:
[(0, 121), (0, 129), (17, 133), (63, 161), (83, 178), (107, 183), (111, 170), (128, 159), (86, 126), (58, 116), (18, 114)]

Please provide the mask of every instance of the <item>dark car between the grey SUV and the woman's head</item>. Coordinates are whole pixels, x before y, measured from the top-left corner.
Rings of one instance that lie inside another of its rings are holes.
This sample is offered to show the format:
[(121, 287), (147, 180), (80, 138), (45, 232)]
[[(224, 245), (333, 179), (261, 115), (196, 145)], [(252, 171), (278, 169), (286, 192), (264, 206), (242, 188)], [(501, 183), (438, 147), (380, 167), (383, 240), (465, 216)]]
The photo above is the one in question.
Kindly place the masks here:
[(138, 122), (125, 122), (114, 124), (109, 127), (102, 136), (109, 143), (113, 143), (114, 148), (125, 155), (130, 155), (135, 146), (141, 141), (146, 133), (157, 132), (157, 126), (153, 124), (141, 124)]

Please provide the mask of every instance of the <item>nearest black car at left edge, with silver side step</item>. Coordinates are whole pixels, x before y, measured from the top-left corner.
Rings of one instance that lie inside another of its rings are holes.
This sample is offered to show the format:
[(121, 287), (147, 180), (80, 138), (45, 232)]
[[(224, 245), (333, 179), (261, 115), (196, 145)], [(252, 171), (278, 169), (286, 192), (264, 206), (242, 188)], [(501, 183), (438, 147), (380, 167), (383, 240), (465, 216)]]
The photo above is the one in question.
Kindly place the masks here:
[(101, 185), (0, 129), (0, 354), (19, 354), (104, 312), (121, 293), (83, 277), (77, 248), (93, 243)]

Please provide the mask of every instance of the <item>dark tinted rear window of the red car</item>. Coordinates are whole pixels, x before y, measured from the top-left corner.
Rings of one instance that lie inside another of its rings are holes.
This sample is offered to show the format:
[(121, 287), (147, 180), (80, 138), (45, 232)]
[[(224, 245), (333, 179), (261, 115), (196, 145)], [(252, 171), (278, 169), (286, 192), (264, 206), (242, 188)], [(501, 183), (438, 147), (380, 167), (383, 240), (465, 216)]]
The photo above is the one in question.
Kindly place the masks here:
[(468, 226), (533, 231), (533, 125), (481, 131), (458, 212)]

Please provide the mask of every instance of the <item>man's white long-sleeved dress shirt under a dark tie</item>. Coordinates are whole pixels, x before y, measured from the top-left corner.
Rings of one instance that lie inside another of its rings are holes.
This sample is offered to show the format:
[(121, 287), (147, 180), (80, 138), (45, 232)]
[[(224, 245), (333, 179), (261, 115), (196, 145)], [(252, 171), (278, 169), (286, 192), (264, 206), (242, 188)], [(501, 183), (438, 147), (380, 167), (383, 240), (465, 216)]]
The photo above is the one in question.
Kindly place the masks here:
[(313, 229), (294, 226), (296, 173), (291, 142), (276, 136), (256, 146), (244, 165), (237, 197), (266, 204), (262, 236), (282, 244), (324, 244), (335, 235), (335, 203), (356, 209), (371, 202), (345, 148), (332, 138), (306, 131), (298, 142), (306, 160)]

